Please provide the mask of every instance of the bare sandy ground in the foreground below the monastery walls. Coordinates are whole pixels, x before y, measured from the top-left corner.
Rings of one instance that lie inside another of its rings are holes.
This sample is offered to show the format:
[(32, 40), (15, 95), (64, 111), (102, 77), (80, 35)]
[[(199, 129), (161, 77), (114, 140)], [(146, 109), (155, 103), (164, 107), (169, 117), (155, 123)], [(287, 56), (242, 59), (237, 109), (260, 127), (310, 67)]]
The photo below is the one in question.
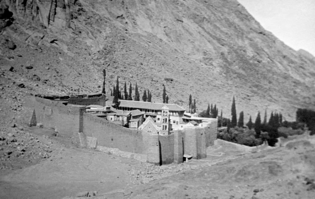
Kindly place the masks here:
[(0, 198), (59, 199), (82, 191), (97, 191), (99, 199), (306, 199), (315, 195), (315, 142), (305, 136), (285, 147), (254, 153), (216, 144), (208, 148), (212, 155), (205, 159), (159, 167), (77, 148), (70, 140), (52, 136), (49, 129), (24, 131), (50, 144), (53, 151), (37, 164), (2, 172)]

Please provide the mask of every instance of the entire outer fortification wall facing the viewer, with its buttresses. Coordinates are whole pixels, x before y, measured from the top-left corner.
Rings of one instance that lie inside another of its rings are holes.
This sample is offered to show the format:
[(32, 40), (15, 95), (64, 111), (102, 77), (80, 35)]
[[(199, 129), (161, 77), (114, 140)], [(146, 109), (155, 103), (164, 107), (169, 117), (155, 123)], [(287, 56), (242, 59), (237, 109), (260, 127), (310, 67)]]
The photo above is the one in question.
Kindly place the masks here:
[(64, 105), (62, 102), (39, 97), (31, 97), (25, 112), (28, 114), (27, 122), (32, 118), (39, 123), (41, 118), (43, 126), (72, 138), (78, 145), (83, 146), (86, 137), (97, 138), (99, 146), (146, 154), (146, 161), (156, 165), (181, 163), (184, 154), (192, 155), (193, 159), (204, 158), (206, 147), (212, 145), (217, 136), (216, 120), (203, 128), (185, 128), (162, 136), (150, 125), (142, 131), (128, 129), (85, 113), (84, 106), (70, 103)]

